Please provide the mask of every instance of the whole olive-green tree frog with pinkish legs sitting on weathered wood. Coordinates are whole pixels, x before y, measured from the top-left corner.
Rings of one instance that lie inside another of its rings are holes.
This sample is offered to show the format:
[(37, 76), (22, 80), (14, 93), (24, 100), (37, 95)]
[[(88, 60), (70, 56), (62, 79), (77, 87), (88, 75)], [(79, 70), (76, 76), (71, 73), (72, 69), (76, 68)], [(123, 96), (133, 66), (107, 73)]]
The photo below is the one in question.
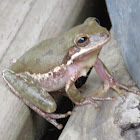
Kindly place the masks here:
[(76, 105), (92, 104), (96, 101), (114, 98), (84, 97), (75, 87), (75, 81), (86, 76), (94, 66), (104, 81), (104, 89), (99, 93), (120, 88), (131, 91), (116, 82), (98, 58), (98, 54), (110, 39), (106, 28), (101, 27), (90, 17), (81, 25), (59, 35), (44, 40), (29, 49), (9, 69), (3, 71), (3, 79), (10, 89), (31, 109), (36, 111), (58, 129), (62, 128), (56, 119), (65, 118), (71, 112), (55, 114), (56, 103), (51, 96), (65, 91)]

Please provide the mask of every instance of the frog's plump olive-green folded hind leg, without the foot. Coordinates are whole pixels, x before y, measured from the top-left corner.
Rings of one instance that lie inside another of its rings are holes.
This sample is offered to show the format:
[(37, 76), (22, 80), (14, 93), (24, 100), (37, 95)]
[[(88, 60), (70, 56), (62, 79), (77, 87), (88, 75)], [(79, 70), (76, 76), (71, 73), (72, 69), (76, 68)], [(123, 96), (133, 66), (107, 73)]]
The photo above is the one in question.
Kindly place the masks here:
[(35, 84), (23, 79), (11, 70), (3, 71), (3, 78), (12, 91), (26, 104), (32, 104), (38, 109), (51, 113), (56, 110), (56, 103), (51, 95), (38, 88)]

